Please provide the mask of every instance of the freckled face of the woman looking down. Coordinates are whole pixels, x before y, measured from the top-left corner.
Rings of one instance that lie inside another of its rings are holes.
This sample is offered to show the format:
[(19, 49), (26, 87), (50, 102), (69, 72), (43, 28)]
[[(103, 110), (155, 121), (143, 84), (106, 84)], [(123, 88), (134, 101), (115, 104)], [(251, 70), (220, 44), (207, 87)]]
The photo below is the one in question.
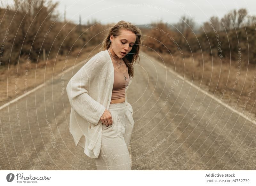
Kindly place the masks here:
[(136, 35), (130, 30), (122, 29), (119, 36), (113, 37), (111, 35), (110, 40), (112, 41), (111, 48), (116, 56), (124, 58), (132, 50), (132, 46), (136, 41)]

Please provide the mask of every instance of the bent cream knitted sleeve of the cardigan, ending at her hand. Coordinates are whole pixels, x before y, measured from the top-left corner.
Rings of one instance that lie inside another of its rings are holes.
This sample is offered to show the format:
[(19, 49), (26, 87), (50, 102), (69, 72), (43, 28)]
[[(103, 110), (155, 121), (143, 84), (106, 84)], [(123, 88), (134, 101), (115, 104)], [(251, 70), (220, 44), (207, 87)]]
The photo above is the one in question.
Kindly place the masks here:
[[(101, 68), (102, 59), (93, 56), (68, 82), (67, 95), (71, 107), (85, 120), (97, 125), (105, 107), (88, 95), (88, 85), (93, 74)], [(99, 72), (99, 71), (98, 71)]]

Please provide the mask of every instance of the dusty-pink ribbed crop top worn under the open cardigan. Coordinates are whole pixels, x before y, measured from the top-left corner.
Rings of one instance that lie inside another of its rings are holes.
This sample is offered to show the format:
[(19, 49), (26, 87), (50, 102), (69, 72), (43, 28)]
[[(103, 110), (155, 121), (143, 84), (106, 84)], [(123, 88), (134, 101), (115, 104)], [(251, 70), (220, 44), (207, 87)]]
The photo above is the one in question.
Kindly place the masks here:
[[(126, 76), (126, 80), (124, 79), (124, 75)], [(114, 84), (111, 99), (120, 99), (125, 97), (125, 87), (129, 84), (129, 81), (130, 77), (128, 74), (127, 66), (124, 74), (122, 72), (117, 72), (116, 70), (114, 70)]]

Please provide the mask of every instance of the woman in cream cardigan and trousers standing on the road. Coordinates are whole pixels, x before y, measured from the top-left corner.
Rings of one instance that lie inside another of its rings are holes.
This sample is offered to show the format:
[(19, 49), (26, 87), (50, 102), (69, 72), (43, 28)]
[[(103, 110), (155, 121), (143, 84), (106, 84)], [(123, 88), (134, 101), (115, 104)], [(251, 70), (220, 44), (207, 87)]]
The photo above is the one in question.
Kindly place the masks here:
[(134, 120), (125, 93), (141, 43), (140, 29), (119, 21), (109, 29), (102, 51), (68, 82), (70, 133), (95, 158), (97, 170), (131, 170), (128, 144)]

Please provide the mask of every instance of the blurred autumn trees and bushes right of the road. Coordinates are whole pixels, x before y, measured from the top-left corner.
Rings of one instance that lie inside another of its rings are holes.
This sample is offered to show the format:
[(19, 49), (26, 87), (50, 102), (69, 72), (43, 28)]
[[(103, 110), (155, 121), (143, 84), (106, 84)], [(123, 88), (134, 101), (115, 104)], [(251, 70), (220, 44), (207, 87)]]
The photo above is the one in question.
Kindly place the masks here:
[[(256, 63), (256, 16), (248, 15), (246, 9), (235, 9), (219, 18), (212, 16), (201, 27), (196, 28), (193, 18), (183, 15), (176, 24), (169, 25), (162, 21), (152, 23), (160, 29), (144, 29), (146, 38), (143, 45), (150, 46), (157, 52), (170, 52), (183, 56), (191, 53), (204, 53), (210, 56), (219, 56), (222, 59), (237, 59), (238, 51), (241, 52), (243, 61)], [(171, 39), (159, 30), (172, 35)]]

